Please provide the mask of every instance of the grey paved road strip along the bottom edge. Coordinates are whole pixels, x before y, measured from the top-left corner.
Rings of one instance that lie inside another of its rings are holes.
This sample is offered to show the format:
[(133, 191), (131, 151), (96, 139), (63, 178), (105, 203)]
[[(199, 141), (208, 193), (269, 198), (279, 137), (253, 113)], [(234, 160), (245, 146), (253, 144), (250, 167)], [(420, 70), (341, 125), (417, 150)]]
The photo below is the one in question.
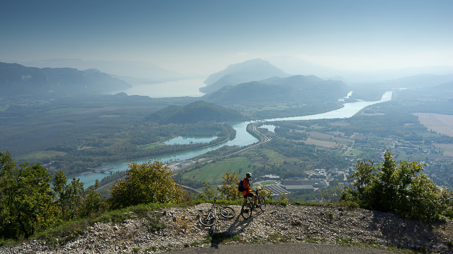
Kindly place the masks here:
[(330, 244), (310, 243), (269, 243), (269, 244), (226, 244), (208, 245), (203, 247), (187, 247), (175, 250), (174, 253), (198, 254), (198, 253), (281, 253), (281, 254), (390, 254), (396, 253), (388, 250), (364, 248), (355, 246), (340, 246)]

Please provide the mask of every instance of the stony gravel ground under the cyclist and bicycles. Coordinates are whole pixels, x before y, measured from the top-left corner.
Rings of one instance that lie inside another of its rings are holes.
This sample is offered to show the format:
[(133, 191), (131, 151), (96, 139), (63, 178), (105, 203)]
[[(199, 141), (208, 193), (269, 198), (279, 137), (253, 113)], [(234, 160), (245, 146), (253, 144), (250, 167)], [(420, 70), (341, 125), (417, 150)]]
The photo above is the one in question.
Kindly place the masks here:
[[(210, 204), (167, 208), (147, 218), (132, 217), (122, 224), (97, 223), (69, 241), (49, 243), (33, 240), (17, 246), (2, 246), (0, 253), (154, 253), (193, 246), (218, 244), (309, 242), (318, 244), (369, 243), (394, 245), (418, 251), (453, 252), (453, 223), (419, 222), (391, 213), (347, 207), (268, 205), (244, 220), (240, 206), (236, 216), (219, 218), (217, 232), (198, 222), (200, 210)], [(159, 217), (163, 228), (150, 223)]]

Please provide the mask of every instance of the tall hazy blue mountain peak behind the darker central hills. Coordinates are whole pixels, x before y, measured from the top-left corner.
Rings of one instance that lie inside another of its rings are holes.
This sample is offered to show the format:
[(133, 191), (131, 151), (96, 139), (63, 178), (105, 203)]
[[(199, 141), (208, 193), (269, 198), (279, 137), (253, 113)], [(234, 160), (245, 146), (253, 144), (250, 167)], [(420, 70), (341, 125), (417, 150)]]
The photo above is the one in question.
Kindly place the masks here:
[(262, 59), (253, 59), (243, 63), (232, 64), (217, 73), (209, 75), (201, 87), (204, 93), (215, 92), (225, 85), (234, 86), (240, 83), (258, 81), (270, 77), (288, 77), (289, 74)]

